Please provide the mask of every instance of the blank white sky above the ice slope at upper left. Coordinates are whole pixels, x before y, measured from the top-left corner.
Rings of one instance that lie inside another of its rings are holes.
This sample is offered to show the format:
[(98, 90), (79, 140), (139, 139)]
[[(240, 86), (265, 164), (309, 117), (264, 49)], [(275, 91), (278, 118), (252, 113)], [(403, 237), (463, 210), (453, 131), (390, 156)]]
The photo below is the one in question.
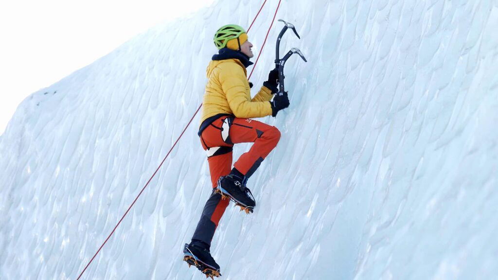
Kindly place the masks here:
[(215, 0), (6, 0), (0, 3), (0, 135), (31, 93), (134, 35)]

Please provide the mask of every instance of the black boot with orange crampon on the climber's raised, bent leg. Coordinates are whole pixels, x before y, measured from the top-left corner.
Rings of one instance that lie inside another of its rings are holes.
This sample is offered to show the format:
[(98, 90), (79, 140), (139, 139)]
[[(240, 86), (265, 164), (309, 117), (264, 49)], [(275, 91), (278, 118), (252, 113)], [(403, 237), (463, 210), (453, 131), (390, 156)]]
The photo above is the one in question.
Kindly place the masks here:
[(223, 197), (228, 196), (241, 207), (241, 211), (244, 210), (249, 214), (256, 206), (256, 201), (246, 187), (246, 181), (247, 178), (235, 169), (235, 172), (233, 170), (229, 175), (220, 177), (215, 191)]

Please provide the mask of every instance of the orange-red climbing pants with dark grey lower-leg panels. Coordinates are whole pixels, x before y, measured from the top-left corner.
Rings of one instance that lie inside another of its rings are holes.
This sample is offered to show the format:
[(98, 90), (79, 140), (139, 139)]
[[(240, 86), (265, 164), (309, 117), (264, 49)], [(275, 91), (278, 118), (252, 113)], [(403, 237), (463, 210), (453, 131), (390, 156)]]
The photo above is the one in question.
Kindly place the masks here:
[[(279, 139), (280, 132), (277, 128), (251, 119), (223, 116), (213, 121), (201, 134), (202, 147), (208, 154), (213, 189), (216, 188), (218, 179), (228, 175), (232, 170), (234, 144), (253, 143), (249, 151), (242, 154), (234, 164), (237, 170), (250, 177)], [(220, 194), (213, 192), (204, 206), (201, 220), (192, 239), (210, 245), (229, 203), (229, 199), (222, 199)]]

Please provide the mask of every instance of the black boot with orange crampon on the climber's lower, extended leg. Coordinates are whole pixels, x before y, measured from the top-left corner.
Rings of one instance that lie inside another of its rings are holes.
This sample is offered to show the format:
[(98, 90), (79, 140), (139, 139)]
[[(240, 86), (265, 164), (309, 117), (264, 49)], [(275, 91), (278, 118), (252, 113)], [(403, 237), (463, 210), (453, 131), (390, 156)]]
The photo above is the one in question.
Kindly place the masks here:
[(220, 266), (215, 262), (209, 247), (202, 241), (192, 240), (190, 244), (185, 244), (183, 247), (183, 260), (187, 262), (188, 266), (195, 266), (206, 278), (220, 277)]

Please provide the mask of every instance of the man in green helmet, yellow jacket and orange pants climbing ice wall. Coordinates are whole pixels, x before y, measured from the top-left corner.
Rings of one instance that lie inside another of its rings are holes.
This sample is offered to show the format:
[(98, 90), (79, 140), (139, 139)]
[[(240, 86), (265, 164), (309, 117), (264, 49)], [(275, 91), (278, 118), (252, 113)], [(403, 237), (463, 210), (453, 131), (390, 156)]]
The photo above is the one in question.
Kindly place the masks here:
[[(264, 158), (276, 146), (280, 132), (272, 126), (252, 120), (275, 117), (289, 106), (286, 94), (275, 96), (278, 71), (271, 70), (268, 80), (251, 98), (246, 68), (254, 54), (248, 35), (239, 25), (229, 24), (216, 31), (213, 55), (206, 74), (208, 82), (203, 98), (199, 137), (206, 150), (213, 192), (202, 211), (201, 219), (190, 244), (185, 244), (184, 260), (195, 265), (206, 276), (220, 276), (220, 266), (210, 254), (211, 240), (225, 209), (233, 200), (246, 213), (256, 206), (246, 186)], [(234, 144), (252, 142), (232, 168)]]

